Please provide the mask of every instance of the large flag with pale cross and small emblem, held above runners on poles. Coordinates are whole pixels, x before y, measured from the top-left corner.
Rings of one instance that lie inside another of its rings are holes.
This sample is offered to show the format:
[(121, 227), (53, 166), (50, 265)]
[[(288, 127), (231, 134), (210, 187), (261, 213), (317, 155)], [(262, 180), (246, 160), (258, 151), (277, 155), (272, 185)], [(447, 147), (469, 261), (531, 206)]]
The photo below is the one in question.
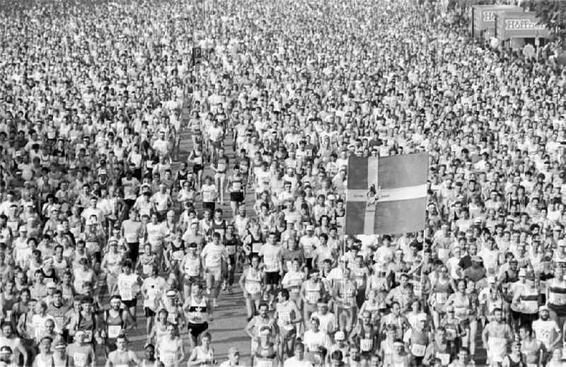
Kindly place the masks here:
[(420, 231), (427, 206), (428, 153), (350, 157), (347, 235)]

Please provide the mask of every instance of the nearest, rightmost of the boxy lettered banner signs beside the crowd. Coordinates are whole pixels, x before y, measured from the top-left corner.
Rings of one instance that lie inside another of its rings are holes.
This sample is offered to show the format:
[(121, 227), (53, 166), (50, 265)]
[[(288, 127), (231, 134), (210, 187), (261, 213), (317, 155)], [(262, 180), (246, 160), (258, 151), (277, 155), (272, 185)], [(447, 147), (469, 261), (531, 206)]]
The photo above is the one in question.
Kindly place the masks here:
[(495, 36), (499, 40), (512, 38), (545, 38), (549, 30), (534, 12), (500, 11), (495, 16)]

